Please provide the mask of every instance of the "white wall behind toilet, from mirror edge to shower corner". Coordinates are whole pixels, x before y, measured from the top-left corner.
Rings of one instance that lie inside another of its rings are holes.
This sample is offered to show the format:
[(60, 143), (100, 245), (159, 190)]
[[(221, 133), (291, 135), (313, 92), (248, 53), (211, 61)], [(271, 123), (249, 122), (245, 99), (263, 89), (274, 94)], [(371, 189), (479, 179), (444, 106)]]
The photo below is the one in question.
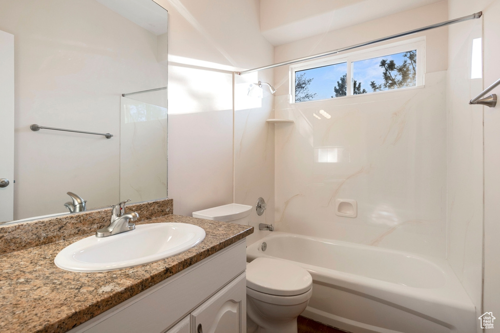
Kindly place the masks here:
[[(259, 196), (272, 205), (273, 130), (265, 119), (273, 101), (265, 95), (247, 102), (244, 87), (272, 83), (272, 71), (235, 77), (243, 90), (233, 99), (233, 70), (273, 60), (259, 30), (259, 1), (157, 2), (170, 19), (168, 196), (174, 213), (231, 202), (255, 206)], [(258, 222), (252, 210), (252, 223)]]

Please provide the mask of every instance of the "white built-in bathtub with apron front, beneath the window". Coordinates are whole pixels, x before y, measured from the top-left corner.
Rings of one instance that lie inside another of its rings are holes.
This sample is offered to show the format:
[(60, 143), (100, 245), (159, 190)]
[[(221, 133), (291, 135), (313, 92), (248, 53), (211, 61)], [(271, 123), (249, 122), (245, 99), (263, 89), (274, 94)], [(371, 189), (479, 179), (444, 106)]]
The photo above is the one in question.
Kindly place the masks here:
[[(265, 250), (262, 250), (265, 243)], [(474, 333), (475, 308), (446, 260), (272, 232), (246, 258), (295, 263), (312, 276), (302, 316), (353, 333)]]

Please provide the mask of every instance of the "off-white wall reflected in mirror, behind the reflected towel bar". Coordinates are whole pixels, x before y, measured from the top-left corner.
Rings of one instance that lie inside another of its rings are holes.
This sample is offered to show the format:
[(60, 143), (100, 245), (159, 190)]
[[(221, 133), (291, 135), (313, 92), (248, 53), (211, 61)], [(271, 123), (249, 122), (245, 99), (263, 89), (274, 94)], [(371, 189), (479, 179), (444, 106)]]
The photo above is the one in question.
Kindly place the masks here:
[[(95, 1), (0, 1), (14, 35), (14, 219), (118, 202), (120, 94), (165, 85), (156, 36)], [(61, 28), (65, 24), (65, 28)], [(30, 124), (111, 133), (40, 130)]]

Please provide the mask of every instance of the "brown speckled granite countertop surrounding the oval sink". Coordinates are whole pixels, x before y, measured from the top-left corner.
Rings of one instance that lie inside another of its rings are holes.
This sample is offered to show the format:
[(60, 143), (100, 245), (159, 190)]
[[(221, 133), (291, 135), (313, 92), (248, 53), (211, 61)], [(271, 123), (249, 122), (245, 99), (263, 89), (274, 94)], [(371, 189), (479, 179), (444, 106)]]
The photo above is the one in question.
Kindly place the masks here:
[(73, 273), (55, 266), (60, 250), (86, 236), (1, 255), (0, 331), (66, 332), (253, 232), (249, 226), (178, 215), (144, 222), (190, 223), (206, 236), (178, 255), (110, 272)]

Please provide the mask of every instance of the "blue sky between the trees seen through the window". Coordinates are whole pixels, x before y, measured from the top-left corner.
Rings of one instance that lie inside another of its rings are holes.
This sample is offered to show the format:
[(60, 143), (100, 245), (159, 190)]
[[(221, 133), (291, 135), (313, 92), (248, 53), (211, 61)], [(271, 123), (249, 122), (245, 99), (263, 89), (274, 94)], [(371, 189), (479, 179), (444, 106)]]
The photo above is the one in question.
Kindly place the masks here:
[[(371, 92), (370, 82), (375, 81), (378, 84), (383, 82), (382, 68), (380, 68), (380, 60), (388, 59), (394, 60), (397, 65), (403, 62), (402, 53), (386, 55), (377, 58), (365, 59), (352, 62), (352, 76), (357, 82), (361, 82), (361, 89), (366, 89)], [(316, 93), (314, 100), (331, 98), (335, 95), (333, 87), (337, 86), (337, 81), (340, 80), (342, 75), (347, 72), (347, 63), (342, 62), (334, 65), (323, 67), (311, 68), (295, 72), (295, 76), (306, 73), (307, 78), (313, 77), (314, 79), (309, 84), (309, 92)]]

